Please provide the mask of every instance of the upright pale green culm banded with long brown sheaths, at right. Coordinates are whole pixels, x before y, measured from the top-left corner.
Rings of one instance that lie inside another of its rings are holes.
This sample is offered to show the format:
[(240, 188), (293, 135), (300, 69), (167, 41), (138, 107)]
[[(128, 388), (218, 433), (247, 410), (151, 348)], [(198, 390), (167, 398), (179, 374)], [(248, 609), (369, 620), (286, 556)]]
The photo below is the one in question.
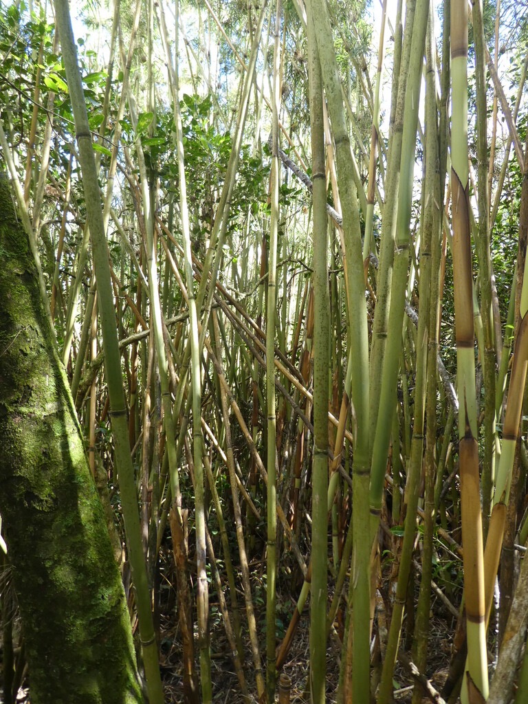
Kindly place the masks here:
[(464, 545), (464, 593), (467, 618), (467, 677), (461, 698), (476, 687), (486, 699), (488, 671), (484, 607), (484, 558), (480, 508), (477, 398), (474, 368), (474, 323), (467, 163), (467, 3), (451, 4), (451, 202), (453, 282), (458, 384), (460, 504)]

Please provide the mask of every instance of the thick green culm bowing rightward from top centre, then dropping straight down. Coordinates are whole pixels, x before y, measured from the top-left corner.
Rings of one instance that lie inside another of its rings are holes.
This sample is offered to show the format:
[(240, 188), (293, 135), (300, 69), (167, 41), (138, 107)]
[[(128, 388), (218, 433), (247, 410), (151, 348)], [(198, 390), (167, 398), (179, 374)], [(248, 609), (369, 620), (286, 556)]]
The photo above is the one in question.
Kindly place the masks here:
[[(368, 492), (370, 455), (368, 442), (369, 388), (368, 388), (368, 330), (365, 304), (365, 276), (363, 272), (363, 247), (359, 218), (358, 193), (354, 182), (354, 165), (350, 137), (345, 120), (341, 95), (341, 79), (334, 51), (332, 28), (325, 2), (310, 0), (307, 4), (313, 14), (315, 38), (318, 45), (322, 81), (332, 122), (336, 144), (337, 180), (343, 211), (343, 234), (348, 285), (348, 310), (350, 313), (350, 340), (354, 350), (351, 381), (351, 400), (354, 417), (353, 453), (353, 575), (351, 596), (353, 601), (353, 672), (347, 678), (346, 688), (351, 687), (356, 702), (370, 697), (370, 541)], [(345, 640), (346, 642), (346, 640)], [(341, 667), (345, 667), (343, 658)], [(347, 695), (348, 696), (348, 695)]]

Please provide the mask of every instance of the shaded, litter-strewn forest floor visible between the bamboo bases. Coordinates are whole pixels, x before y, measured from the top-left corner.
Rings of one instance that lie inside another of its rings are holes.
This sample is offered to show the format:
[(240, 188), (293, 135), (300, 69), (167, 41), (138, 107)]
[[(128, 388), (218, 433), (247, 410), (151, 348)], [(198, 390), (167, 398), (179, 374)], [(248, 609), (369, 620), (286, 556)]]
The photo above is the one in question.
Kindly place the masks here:
[[(189, 562), (190, 567), (190, 562)], [(292, 565), (293, 567), (293, 565)], [(253, 605), (255, 608), (255, 617), (258, 629), (258, 639), (260, 645), (260, 655), (262, 661), (265, 660), (265, 560), (256, 559), (251, 565)], [(192, 570), (191, 570), (192, 571)], [(298, 572), (298, 570), (297, 570)], [(395, 574), (396, 572), (396, 574)], [(172, 551), (162, 549), (161, 564), (160, 564), (160, 586), (159, 586), (159, 632), (160, 632), (160, 665), (165, 690), (165, 702), (167, 704), (180, 704), (183, 702), (183, 660), (182, 660), (182, 637), (180, 625), (177, 619), (177, 591), (175, 588), (175, 567), (172, 559)], [(387, 593), (389, 592), (389, 584), (394, 584), (394, 579), (397, 576), (397, 570), (394, 562), (388, 560), (382, 569), (383, 579), (377, 590), (377, 605), (376, 605), (376, 631), (383, 632), (386, 624), (389, 623), (389, 617), (386, 614)], [(447, 580), (448, 581), (448, 580)], [(419, 574), (415, 574), (415, 603), (417, 602), (418, 586), (420, 583)], [(277, 644), (282, 641), (285, 631), (291, 620), (291, 615), (295, 610), (294, 599), (291, 594), (299, 593), (302, 580), (300, 572), (296, 574), (296, 570), (292, 570), (289, 574), (279, 575), (277, 586)], [(446, 584), (444, 584), (445, 588)], [(441, 600), (436, 593), (432, 594), (432, 601), (429, 611), (429, 630), (428, 630), (428, 659), (427, 671), (424, 673), (429, 679), (436, 691), (441, 692), (446, 677), (448, 667), (451, 660), (453, 648), (453, 638), (457, 618), (454, 616), (455, 610), (460, 605), (462, 590), (458, 584), (453, 582), (448, 584), (448, 591), (451, 590), (451, 610), (446, 607), (446, 598)], [(226, 593), (226, 599), (229, 602), (229, 595)], [(250, 692), (249, 702), (258, 704), (256, 697), (256, 681), (255, 668), (253, 667), (253, 658), (249, 643), (249, 635), (246, 627), (246, 615), (244, 609), (243, 594), (239, 593), (239, 612), (242, 622), (242, 639), (244, 641), (244, 674), (246, 677), (247, 689)], [(332, 595), (329, 595), (332, 596)], [(218, 704), (247, 704), (244, 701), (244, 696), (241, 693), (239, 679), (234, 668), (234, 662), (230, 651), (230, 643), (225, 634), (222, 615), (218, 603), (218, 595), (215, 591), (210, 593), (210, 641), (211, 641), (211, 662), (212, 662), (212, 682), (213, 682), (213, 700)], [(19, 633), (18, 610), (13, 615), (13, 627), (15, 633)], [(195, 672), (199, 672), (199, 657), (196, 643), (196, 614), (195, 620)], [(327, 703), (334, 704), (337, 702), (337, 691), (339, 687), (339, 670), (341, 661), (341, 640), (344, 627), (345, 611), (341, 608), (338, 612), (338, 617), (335, 622), (335, 628), (332, 631), (327, 641)], [(406, 616), (403, 622), (402, 637), (400, 649), (403, 651), (404, 657), (410, 659), (410, 643), (412, 642), (412, 633), (414, 628), (414, 619)], [(410, 633), (410, 635), (409, 635)], [(384, 636), (386, 638), (386, 635)], [(15, 639), (17, 640), (17, 639)], [(309, 597), (301, 620), (298, 623), (298, 628), (291, 643), (291, 648), (287, 655), (286, 662), (280, 674), (285, 674), (291, 682), (291, 690), (289, 693), (289, 702), (291, 704), (309, 704), (309, 667), (310, 660), (309, 652)], [(403, 658), (402, 658), (403, 660)], [(372, 662), (380, 662), (379, 657), (379, 641), (375, 639)], [(1, 664), (0, 664), (1, 670)], [(372, 678), (379, 681), (381, 667), (372, 667)], [(278, 679), (278, 678), (277, 678)], [(20, 688), (17, 704), (30, 703), (30, 692), (25, 686)], [(401, 662), (396, 663), (394, 672), (394, 701), (396, 704), (410, 704), (413, 698), (413, 690), (415, 681), (410, 675), (408, 667), (402, 665)], [(421, 689), (421, 687), (420, 687)], [(277, 687), (278, 691), (278, 687)], [(201, 697), (200, 697), (201, 698)], [(423, 696), (422, 703), (428, 703), (432, 699), (429, 696)], [(287, 699), (284, 699), (286, 702)], [(4, 697), (0, 689), (0, 704), (4, 703)]]

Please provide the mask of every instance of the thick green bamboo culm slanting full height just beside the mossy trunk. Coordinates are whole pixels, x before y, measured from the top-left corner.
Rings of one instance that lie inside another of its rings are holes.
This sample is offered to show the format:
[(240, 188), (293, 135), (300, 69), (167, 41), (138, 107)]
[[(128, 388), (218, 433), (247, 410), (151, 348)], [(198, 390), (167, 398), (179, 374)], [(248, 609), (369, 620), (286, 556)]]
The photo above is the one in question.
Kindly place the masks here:
[(139, 619), (139, 635), (142, 643), (146, 683), (151, 704), (162, 704), (163, 689), (158, 663), (158, 647), (153, 628), (149, 584), (142, 547), (142, 534), (137, 509), (137, 492), (134, 482), (134, 467), (128, 441), (127, 411), (122, 386), (122, 372), (118, 335), (115, 327), (115, 310), (108, 244), (103, 223), (101, 193), (97, 182), (92, 136), (90, 134), (86, 103), (77, 51), (70, 19), (68, 0), (56, 0), (56, 22), (63, 49), (63, 61), (68, 80), (70, 100), (75, 118), (75, 131), (82, 170), (84, 199), (87, 207), (92, 252), (97, 277), (99, 319), (105, 352), (105, 372), (110, 397), (111, 422), (115, 444), (115, 463), (118, 467), (123, 519), (127, 539), (128, 556), (136, 593)]

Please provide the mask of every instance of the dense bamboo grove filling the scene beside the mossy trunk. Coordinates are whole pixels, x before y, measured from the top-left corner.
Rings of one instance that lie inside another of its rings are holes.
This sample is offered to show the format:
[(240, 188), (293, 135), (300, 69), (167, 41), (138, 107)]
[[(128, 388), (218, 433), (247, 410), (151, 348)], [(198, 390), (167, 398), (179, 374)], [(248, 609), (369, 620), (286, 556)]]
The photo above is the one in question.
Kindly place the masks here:
[[(225, 696), (218, 653), (247, 702), (527, 701), (527, 8), (72, 16), (0, 3), (1, 158), (125, 584), (126, 701)], [(39, 685), (0, 581), (11, 703), (26, 659)]]

